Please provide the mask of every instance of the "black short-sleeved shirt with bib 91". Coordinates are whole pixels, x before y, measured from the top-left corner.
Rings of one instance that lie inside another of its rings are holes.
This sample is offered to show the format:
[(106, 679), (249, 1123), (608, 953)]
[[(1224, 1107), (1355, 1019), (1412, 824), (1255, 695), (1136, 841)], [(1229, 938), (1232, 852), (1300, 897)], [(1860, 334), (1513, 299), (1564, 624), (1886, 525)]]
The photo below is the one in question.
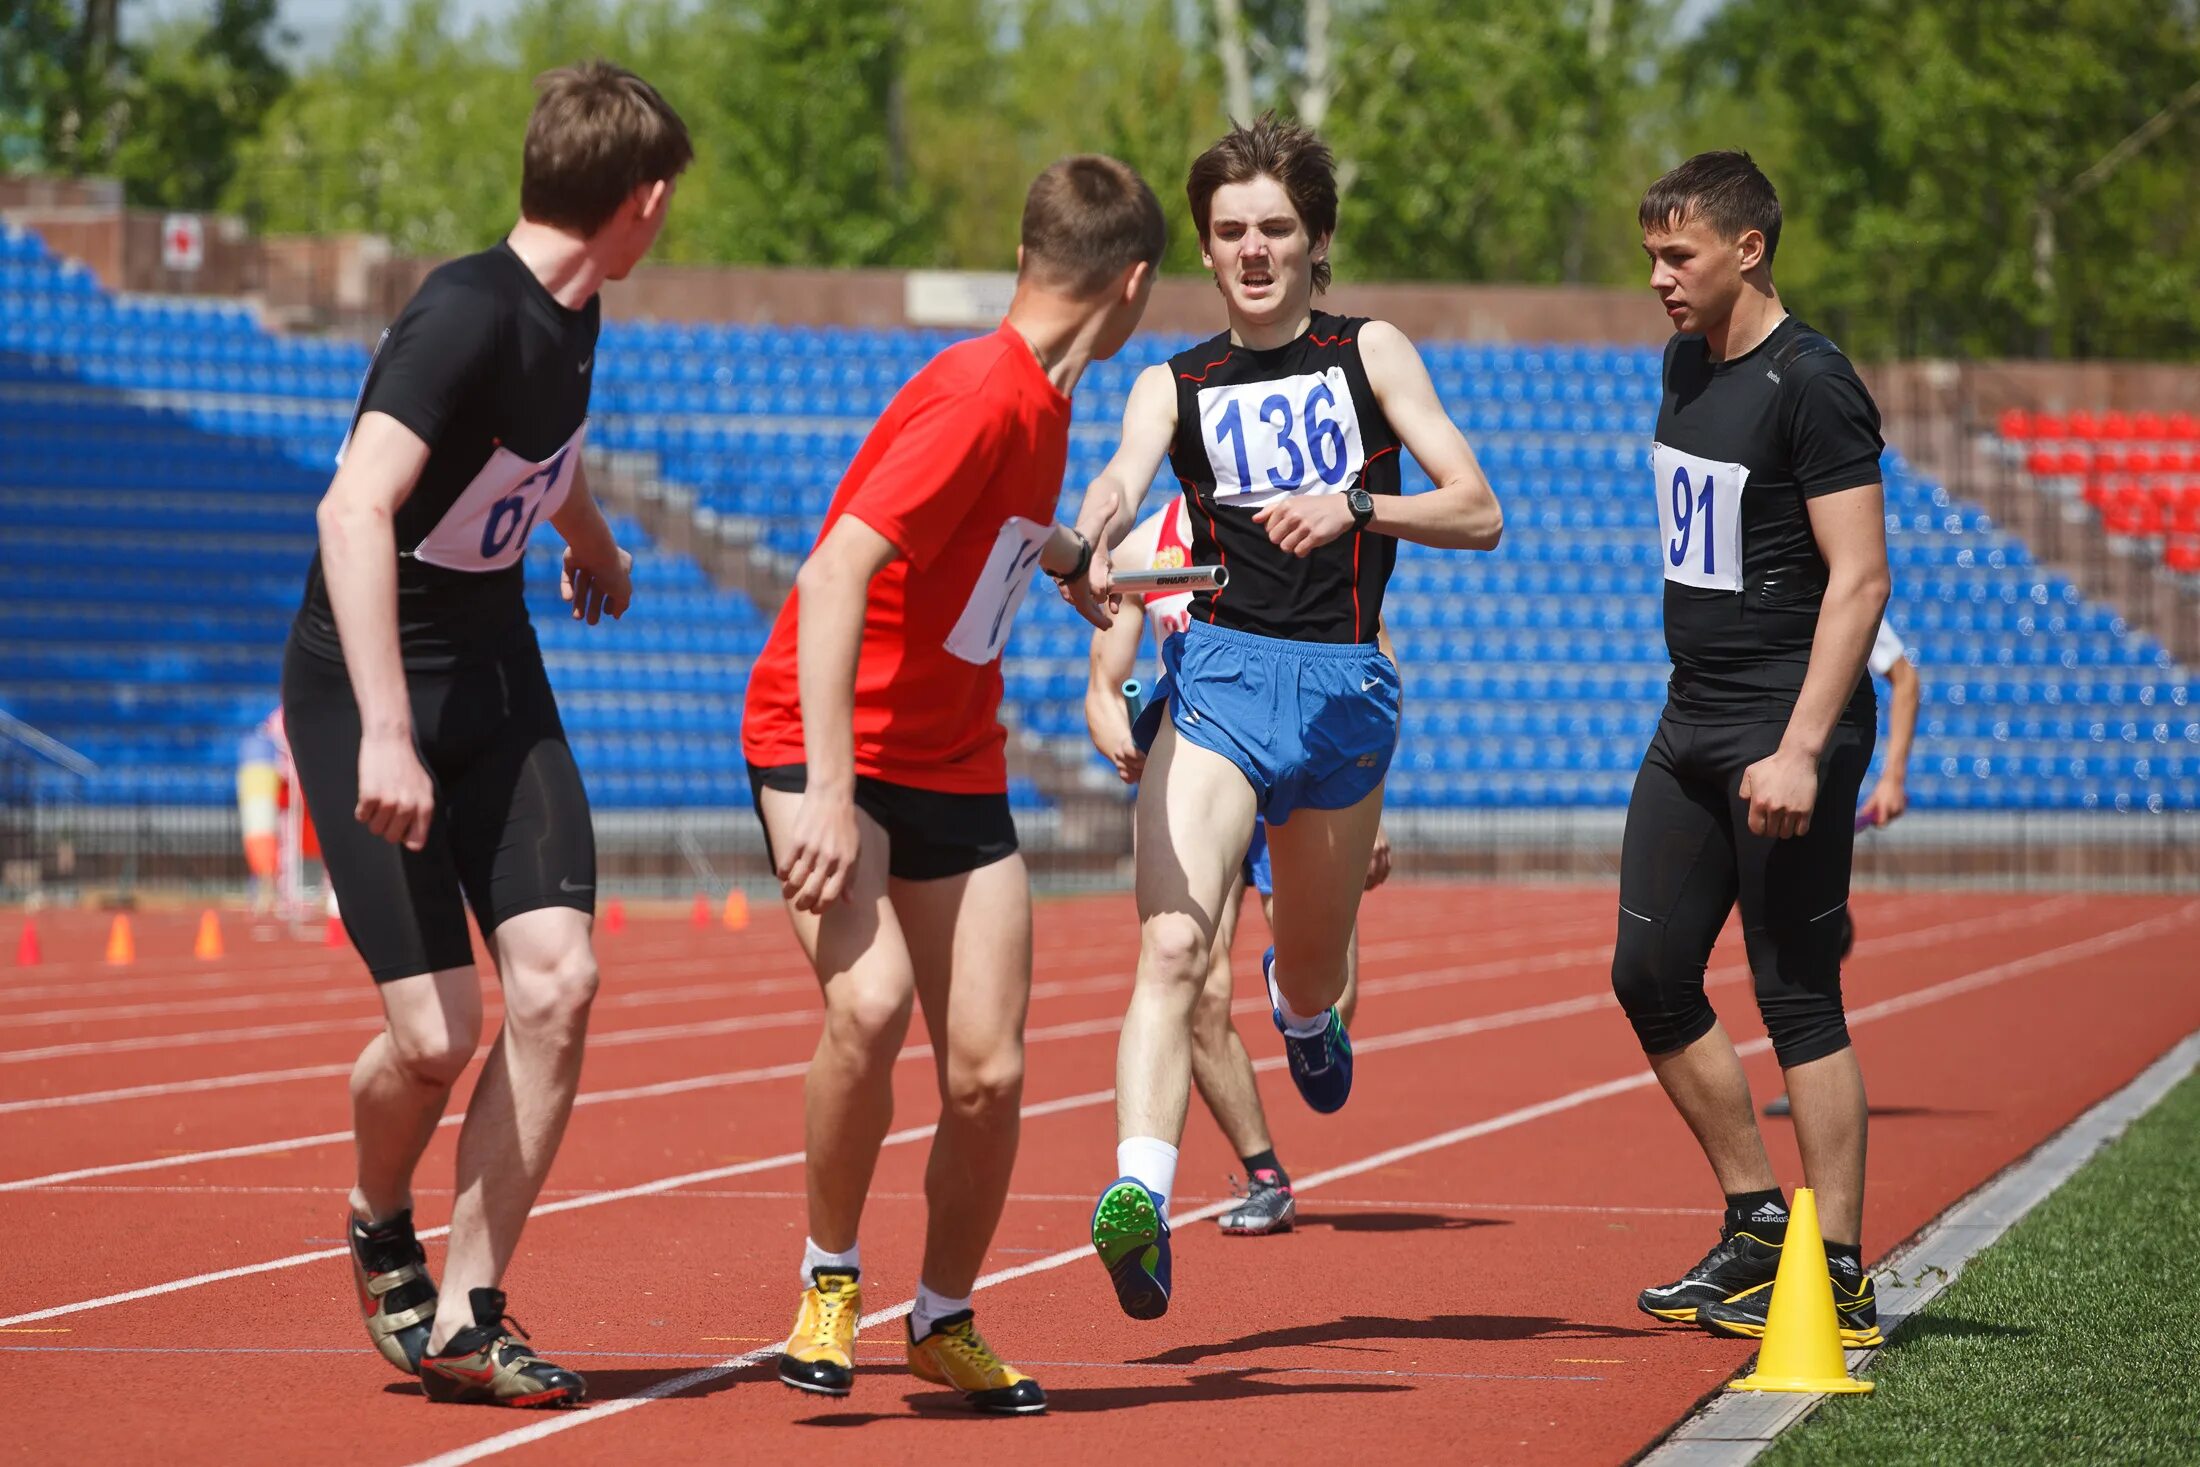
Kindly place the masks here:
[[(1879, 482), (1879, 409), (1826, 337), (1786, 317), (1734, 361), (1665, 345), (1652, 451), (1665, 572), (1665, 713), (1786, 721), (1826, 594), (1806, 501)], [(1841, 715), (1872, 721), (1872, 680)]]

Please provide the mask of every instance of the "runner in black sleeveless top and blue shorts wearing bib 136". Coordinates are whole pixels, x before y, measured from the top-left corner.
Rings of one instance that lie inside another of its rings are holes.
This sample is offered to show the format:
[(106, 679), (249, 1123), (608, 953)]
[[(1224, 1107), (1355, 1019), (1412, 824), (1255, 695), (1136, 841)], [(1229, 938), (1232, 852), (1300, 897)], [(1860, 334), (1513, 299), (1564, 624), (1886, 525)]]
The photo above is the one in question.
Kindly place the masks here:
[[(1186, 185), (1230, 330), (1148, 367), (1078, 528), (1113, 545), (1168, 455), (1201, 565), (1230, 583), (1164, 642), (1140, 735), (1137, 985), (1122, 1025), (1115, 1172), (1093, 1247), (1133, 1317), (1168, 1309), (1168, 1192), (1190, 1098), (1190, 1021), (1223, 902), (1267, 823), (1276, 946), (1263, 970), (1291, 1078), (1316, 1111), (1351, 1093), (1335, 1003), (1397, 743), (1397, 669), (1375, 644), (1397, 539), (1489, 550), (1503, 517), (1406, 337), (1313, 310), (1329, 284), (1329, 150), (1272, 117)], [(1399, 495), (1397, 451), (1437, 488)], [(1109, 583), (1093, 559), (1091, 587)]]

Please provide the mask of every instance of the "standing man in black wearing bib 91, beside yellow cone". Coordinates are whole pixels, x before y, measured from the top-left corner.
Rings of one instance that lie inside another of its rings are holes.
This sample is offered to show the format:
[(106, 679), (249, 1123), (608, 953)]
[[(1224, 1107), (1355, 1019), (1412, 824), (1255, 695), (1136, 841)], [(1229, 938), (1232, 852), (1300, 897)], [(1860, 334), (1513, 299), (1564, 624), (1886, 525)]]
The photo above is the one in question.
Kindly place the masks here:
[(1866, 653), (1888, 603), (1879, 409), (1773, 288), (1780, 200), (1747, 154), (1698, 154), (1641, 202), (1674, 339), (1657, 418), (1672, 684), (1628, 805), (1613, 990), (1727, 1194), (1718, 1247), (1641, 1309), (1762, 1335), (1786, 1199), (1734, 1043), (1703, 996), (1740, 902), (1758, 1012), (1817, 1192), (1841, 1335), (1879, 1342), (1861, 1269), (1863, 1078), (1841, 1014)]

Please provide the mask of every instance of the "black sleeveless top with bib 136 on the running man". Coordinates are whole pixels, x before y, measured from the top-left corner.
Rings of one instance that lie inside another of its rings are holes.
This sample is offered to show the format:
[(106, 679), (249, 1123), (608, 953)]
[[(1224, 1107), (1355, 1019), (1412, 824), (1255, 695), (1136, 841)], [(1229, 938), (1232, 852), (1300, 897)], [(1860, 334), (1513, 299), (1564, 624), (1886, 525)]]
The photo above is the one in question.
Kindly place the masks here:
[(1397, 433), (1360, 361), (1366, 317), (1322, 310), (1305, 334), (1254, 352), (1210, 337), (1168, 359), (1177, 440), (1168, 462), (1192, 517), (1192, 563), (1225, 565), (1192, 616), (1294, 642), (1373, 642), (1397, 539), (1349, 530), (1307, 559), (1269, 543), (1254, 512), (1287, 495), (1395, 495)]

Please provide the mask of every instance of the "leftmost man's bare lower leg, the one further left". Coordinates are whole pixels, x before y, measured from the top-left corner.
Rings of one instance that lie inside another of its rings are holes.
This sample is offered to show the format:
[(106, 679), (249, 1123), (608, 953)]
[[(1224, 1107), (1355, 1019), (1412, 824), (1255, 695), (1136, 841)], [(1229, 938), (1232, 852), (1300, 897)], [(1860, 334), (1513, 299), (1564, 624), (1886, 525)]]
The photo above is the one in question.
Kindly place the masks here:
[(385, 1027), (352, 1067), (352, 1212), (381, 1223), (411, 1207), (411, 1177), (451, 1104), (451, 1087), (482, 1043), (482, 981), (473, 968), (392, 979), (374, 990)]

